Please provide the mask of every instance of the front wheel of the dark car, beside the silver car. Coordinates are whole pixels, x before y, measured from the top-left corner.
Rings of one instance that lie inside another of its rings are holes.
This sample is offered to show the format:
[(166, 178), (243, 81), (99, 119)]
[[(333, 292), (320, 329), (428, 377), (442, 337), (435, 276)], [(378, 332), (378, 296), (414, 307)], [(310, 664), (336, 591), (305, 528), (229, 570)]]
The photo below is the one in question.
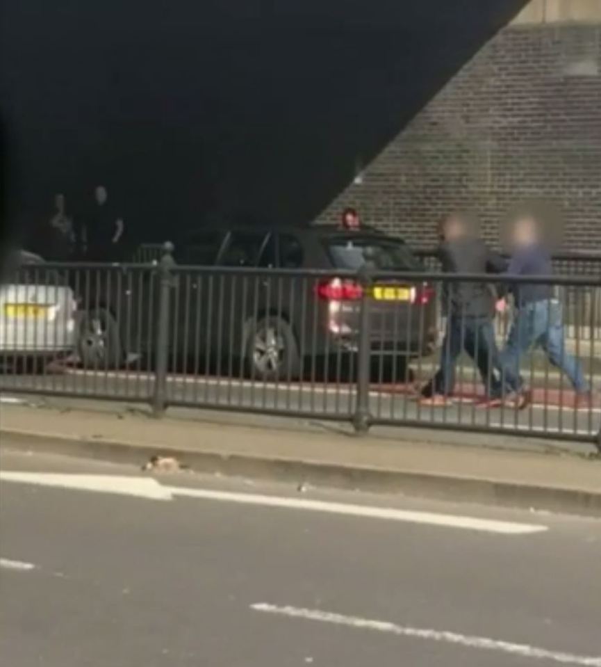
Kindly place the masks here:
[(108, 310), (99, 308), (82, 314), (77, 346), (84, 368), (115, 369), (123, 363), (119, 327)]

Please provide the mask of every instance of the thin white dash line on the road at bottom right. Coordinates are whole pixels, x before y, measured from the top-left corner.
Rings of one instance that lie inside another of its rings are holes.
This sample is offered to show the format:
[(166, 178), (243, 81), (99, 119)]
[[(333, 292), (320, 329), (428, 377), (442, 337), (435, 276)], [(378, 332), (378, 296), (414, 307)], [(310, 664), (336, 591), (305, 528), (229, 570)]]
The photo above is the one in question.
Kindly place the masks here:
[(402, 637), (411, 637), (415, 639), (424, 639), (426, 641), (437, 641), (448, 644), (456, 644), (466, 648), (479, 648), (489, 651), (509, 653), (525, 658), (538, 660), (554, 661), (565, 665), (579, 665), (581, 667), (601, 667), (601, 657), (588, 657), (584, 655), (575, 655), (550, 651), (527, 644), (516, 644), (509, 641), (500, 641), (488, 637), (478, 637), (457, 632), (448, 632), (447, 630), (434, 630), (430, 628), (411, 627), (406, 625), (397, 625), (381, 620), (370, 620), (368, 618), (358, 618), (356, 616), (343, 616), (339, 613), (330, 613), (319, 611), (318, 609), (302, 609), (295, 606), (277, 606), (274, 604), (252, 604), (251, 609), (263, 613), (271, 613), (277, 616), (288, 616), (289, 618), (302, 618), (304, 620), (314, 620), (331, 625), (345, 625), (355, 629), (373, 630), (374, 632), (384, 632), (395, 634)]

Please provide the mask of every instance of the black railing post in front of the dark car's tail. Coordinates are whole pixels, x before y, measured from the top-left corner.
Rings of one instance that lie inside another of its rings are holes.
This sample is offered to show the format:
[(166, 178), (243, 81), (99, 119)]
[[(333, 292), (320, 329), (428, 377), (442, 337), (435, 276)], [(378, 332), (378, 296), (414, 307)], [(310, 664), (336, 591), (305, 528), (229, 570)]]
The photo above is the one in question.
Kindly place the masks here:
[(353, 426), (356, 433), (367, 433), (372, 421), (370, 412), (371, 378), (371, 298), (373, 284), (373, 264), (369, 257), (357, 277), (363, 287), (361, 310), (359, 312), (359, 341), (357, 346), (357, 394)]

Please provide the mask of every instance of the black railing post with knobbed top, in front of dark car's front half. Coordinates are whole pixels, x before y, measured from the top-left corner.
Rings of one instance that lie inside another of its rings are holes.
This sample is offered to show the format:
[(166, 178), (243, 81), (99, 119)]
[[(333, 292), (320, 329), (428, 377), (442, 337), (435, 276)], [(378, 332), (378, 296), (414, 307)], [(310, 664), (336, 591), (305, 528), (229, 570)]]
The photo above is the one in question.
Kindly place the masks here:
[(154, 395), (152, 412), (162, 417), (167, 408), (167, 367), (169, 362), (170, 301), (173, 287), (173, 243), (165, 243), (163, 257), (158, 264), (158, 326), (156, 331), (156, 355), (154, 367)]

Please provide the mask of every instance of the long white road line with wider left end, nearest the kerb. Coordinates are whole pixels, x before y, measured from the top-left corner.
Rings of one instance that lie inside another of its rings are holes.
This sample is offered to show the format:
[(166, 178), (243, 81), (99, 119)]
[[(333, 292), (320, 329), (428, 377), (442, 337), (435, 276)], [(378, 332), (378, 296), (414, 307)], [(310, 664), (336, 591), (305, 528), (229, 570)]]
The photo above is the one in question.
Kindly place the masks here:
[(128, 477), (115, 475), (56, 474), (40, 472), (0, 472), (0, 480), (66, 488), (72, 490), (114, 493), (152, 500), (171, 500), (174, 497), (190, 497), (203, 500), (277, 507), (310, 512), (322, 512), (368, 519), (427, 524), (501, 535), (527, 535), (541, 533), (548, 528), (541, 524), (522, 524), (507, 521), (479, 519), (461, 515), (435, 514), (396, 508), (327, 502), (268, 496), (253, 493), (215, 491), (210, 489), (163, 486), (152, 477)]

